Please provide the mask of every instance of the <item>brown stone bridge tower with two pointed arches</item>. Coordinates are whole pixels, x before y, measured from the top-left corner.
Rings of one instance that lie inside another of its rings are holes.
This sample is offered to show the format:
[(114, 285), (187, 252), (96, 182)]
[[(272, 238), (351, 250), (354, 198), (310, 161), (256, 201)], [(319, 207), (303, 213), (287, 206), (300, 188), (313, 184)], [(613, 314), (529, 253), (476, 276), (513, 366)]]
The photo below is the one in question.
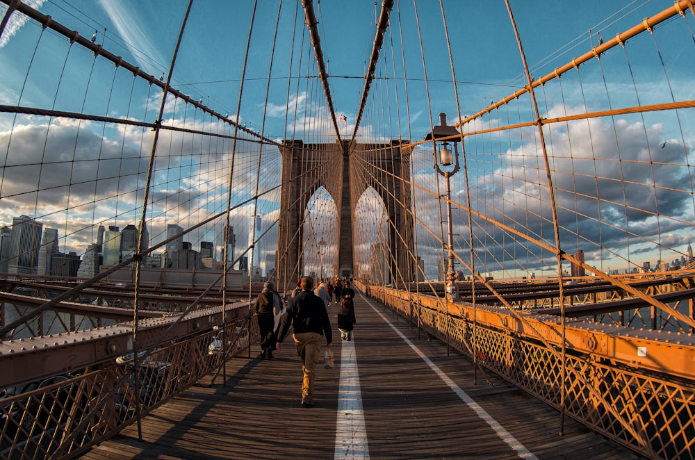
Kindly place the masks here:
[[(414, 219), (411, 215), (410, 149), (402, 149), (402, 143), (405, 142), (354, 144), (350, 148), (347, 142), (283, 142), (280, 147), (282, 186), (277, 246), (277, 280), (280, 286), (291, 288), (302, 276), (304, 214), (309, 199), (321, 186), (329, 192), (338, 208), (338, 274), (345, 277), (357, 274), (352, 255), (352, 216), (359, 197), (368, 187), (372, 187), (382, 198), (389, 218), (391, 278), (398, 282), (416, 281), (416, 267), (411, 256)], [(366, 151), (369, 153), (361, 153)], [(338, 164), (342, 167), (336, 167), (336, 162), (341, 162)], [(331, 165), (330, 174), (324, 174), (322, 170), (327, 165)], [(357, 167), (366, 168), (366, 171), (356, 174)]]

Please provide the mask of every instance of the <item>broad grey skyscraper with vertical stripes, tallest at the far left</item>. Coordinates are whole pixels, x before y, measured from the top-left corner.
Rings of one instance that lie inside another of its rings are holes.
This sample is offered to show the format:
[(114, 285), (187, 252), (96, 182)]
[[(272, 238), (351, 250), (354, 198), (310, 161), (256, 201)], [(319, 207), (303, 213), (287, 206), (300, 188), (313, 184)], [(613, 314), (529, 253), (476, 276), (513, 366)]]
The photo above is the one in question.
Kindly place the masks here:
[(34, 274), (39, 261), (43, 224), (21, 215), (12, 220), (8, 272)]

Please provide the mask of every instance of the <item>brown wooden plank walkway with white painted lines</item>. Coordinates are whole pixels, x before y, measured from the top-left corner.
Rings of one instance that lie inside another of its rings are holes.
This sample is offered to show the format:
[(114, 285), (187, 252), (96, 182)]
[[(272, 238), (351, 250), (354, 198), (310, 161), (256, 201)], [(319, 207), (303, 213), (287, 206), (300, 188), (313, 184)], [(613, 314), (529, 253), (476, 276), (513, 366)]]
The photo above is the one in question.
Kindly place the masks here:
[[(335, 324), (338, 306), (329, 310)], [(334, 326), (335, 368), (318, 368), (316, 406), (300, 405), (291, 336), (274, 361), (238, 357), (85, 459), (639, 459), (455, 350), (355, 298), (354, 340)], [(342, 367), (342, 368), (341, 368)], [(337, 446), (337, 447), (336, 447)]]

